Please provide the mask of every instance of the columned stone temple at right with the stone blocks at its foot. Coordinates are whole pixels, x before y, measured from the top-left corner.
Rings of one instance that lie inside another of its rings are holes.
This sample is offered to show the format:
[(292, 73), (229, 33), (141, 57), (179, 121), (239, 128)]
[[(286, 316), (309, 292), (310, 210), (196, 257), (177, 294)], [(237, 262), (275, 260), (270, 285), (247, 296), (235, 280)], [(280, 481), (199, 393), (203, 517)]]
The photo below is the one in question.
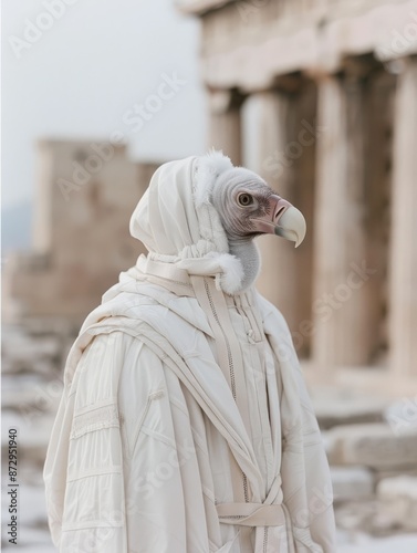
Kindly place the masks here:
[(417, 2), (177, 6), (201, 24), (210, 146), (307, 219), (300, 250), (259, 241), (259, 288), (314, 384), (338, 524), (416, 531)]

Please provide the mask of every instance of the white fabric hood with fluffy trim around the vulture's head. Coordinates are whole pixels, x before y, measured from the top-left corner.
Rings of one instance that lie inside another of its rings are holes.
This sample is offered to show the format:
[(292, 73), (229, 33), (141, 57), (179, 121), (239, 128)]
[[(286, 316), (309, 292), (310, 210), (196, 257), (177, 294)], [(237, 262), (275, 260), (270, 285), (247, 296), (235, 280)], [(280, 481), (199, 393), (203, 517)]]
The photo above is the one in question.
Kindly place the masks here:
[(243, 279), (229, 253), (219, 216), (209, 201), (216, 179), (233, 168), (220, 152), (161, 165), (131, 218), (131, 234), (149, 259), (175, 263), (189, 274), (213, 275), (219, 289), (236, 293)]

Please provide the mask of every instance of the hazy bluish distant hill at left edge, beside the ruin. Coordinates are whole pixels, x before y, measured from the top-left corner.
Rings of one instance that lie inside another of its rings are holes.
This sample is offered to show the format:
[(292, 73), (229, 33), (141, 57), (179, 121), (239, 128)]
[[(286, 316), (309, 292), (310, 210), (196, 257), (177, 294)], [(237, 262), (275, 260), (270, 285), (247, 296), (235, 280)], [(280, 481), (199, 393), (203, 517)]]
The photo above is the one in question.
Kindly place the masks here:
[(32, 202), (22, 201), (1, 210), (1, 248), (3, 254), (11, 250), (31, 247)]

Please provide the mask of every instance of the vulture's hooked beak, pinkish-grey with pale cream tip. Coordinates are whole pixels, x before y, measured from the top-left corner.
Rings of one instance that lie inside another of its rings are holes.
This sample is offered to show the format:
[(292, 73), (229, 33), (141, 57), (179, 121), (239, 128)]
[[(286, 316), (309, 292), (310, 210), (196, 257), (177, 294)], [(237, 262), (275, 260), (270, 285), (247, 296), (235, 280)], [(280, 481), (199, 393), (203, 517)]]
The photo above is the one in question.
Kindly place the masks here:
[(277, 234), (295, 242), (295, 248), (305, 237), (305, 219), (289, 201), (272, 195), (269, 199), (268, 215), (251, 219), (258, 232)]

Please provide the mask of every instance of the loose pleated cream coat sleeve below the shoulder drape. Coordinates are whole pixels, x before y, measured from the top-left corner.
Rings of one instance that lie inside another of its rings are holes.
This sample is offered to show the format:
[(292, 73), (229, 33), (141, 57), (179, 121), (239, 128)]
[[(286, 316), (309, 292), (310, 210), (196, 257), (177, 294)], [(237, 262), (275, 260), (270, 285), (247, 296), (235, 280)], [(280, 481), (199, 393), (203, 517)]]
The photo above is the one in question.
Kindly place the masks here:
[(84, 351), (61, 400), (44, 481), (61, 553), (208, 551), (181, 387), (138, 338), (101, 334)]

